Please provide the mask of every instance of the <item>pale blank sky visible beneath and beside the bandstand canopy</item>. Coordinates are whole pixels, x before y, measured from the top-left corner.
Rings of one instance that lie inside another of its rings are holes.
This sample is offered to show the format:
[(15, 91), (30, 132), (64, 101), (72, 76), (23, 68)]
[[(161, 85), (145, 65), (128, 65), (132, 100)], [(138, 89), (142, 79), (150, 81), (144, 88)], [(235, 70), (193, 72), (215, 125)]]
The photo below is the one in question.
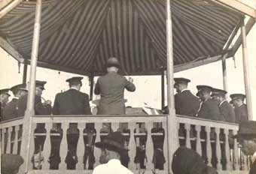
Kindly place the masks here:
[[(244, 0), (244, 2), (249, 3), (252, 7), (256, 7), (256, 0)], [(256, 120), (256, 25), (254, 25), (247, 36), (247, 46), (250, 62), (249, 72), (251, 74), (250, 86), (252, 92), (253, 119)], [(52, 71), (46, 68), (37, 68), (36, 79), (47, 81), (43, 97), (54, 101), (56, 93), (69, 89), (66, 79), (74, 76), (78, 75)], [(223, 89), (221, 62), (192, 68), (187, 71), (181, 71), (175, 73), (174, 76), (190, 79), (191, 83), (189, 83), (188, 89), (190, 89), (194, 94), (197, 92), (197, 85), (208, 85)], [(27, 79), (29, 80), (29, 68)], [(144, 103), (147, 103), (151, 107), (160, 109), (160, 77), (133, 77), (133, 79), (136, 85), (136, 92), (125, 92), (125, 98), (128, 100), (126, 106), (143, 107)], [(17, 61), (12, 58), (11, 55), (8, 55), (5, 50), (0, 48), (0, 89), (11, 88), (11, 86), (22, 83), (22, 80), (23, 65), (20, 65), (19, 73)], [(235, 61), (233, 58), (227, 59), (227, 84), (228, 96), (233, 93), (245, 94), (241, 46), (236, 52)], [(90, 93), (90, 86), (87, 77), (84, 77), (81, 92), (86, 92), (87, 94)], [(94, 98), (96, 98), (96, 96), (94, 96)], [(230, 100), (230, 98), (228, 98), (228, 100)]]

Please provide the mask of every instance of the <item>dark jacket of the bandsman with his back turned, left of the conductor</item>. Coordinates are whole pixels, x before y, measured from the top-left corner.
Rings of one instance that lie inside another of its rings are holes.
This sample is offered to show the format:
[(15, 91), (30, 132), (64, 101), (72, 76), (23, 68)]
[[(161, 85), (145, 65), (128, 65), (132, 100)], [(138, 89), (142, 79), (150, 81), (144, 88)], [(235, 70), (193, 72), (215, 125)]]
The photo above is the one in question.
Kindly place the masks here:
[(76, 89), (56, 95), (53, 115), (91, 115), (89, 97)]

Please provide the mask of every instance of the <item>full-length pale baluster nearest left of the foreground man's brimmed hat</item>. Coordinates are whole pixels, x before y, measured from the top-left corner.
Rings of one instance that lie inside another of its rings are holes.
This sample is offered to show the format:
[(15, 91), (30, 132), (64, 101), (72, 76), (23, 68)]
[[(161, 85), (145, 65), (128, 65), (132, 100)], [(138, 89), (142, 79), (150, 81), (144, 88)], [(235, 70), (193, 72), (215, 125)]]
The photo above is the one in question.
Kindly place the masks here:
[(78, 123), (79, 139), (78, 139), (78, 164), (76, 169), (84, 169), (84, 123)]

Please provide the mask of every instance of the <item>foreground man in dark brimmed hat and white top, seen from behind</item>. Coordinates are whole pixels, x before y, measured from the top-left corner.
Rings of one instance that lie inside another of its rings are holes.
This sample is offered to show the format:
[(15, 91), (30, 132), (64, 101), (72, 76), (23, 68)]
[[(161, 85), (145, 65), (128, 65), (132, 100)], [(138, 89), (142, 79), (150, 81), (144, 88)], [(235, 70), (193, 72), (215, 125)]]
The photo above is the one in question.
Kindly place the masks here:
[(102, 142), (96, 142), (95, 146), (102, 149), (99, 166), (93, 169), (93, 174), (132, 174), (129, 169), (120, 162), (121, 155), (127, 151), (124, 147), (124, 136), (120, 132), (109, 133)]

